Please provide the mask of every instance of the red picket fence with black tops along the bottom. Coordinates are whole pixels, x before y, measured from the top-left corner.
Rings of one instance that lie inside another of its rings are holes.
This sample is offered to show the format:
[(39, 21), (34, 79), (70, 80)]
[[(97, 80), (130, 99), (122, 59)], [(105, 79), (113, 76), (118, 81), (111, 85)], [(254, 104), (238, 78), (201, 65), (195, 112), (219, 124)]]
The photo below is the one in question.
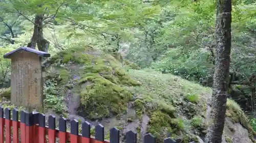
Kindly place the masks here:
[[(5, 112), (5, 114), (4, 114)], [(4, 116), (5, 115), (5, 116)], [(110, 130), (110, 141), (104, 140), (104, 127), (99, 124), (95, 127), (95, 138), (91, 137), (91, 125), (89, 122), (83, 122), (82, 133), (78, 133), (78, 121), (70, 122), (71, 131), (67, 132), (67, 120), (59, 118), (59, 129), (56, 129), (54, 116), (49, 116), (46, 126), (45, 115), (42, 113), (19, 112), (16, 109), (11, 110), (0, 107), (0, 143), (55, 143), (59, 138), (59, 143), (119, 143), (119, 130), (112, 128)], [(11, 128), (12, 127), (12, 128)], [(20, 134), (19, 134), (20, 132)], [(48, 139), (47, 139), (48, 136)], [(137, 133), (129, 131), (125, 136), (126, 143), (136, 143)], [(156, 138), (148, 133), (144, 136), (144, 143), (155, 143)], [(175, 143), (170, 137), (164, 139), (164, 143)]]

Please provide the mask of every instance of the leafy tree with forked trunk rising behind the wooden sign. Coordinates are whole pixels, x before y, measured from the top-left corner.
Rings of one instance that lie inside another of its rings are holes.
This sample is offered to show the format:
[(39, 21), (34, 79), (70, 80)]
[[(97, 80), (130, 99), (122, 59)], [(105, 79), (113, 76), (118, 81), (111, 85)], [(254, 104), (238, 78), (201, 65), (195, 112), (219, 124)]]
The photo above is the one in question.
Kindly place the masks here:
[[(143, 8), (142, 5), (137, 5), (138, 3), (140, 2), (78, 2), (71, 0), (44, 1), (44, 3), (42, 3), (41, 1), (34, 0), (30, 2), (4, 1), (1, 3), (0, 7), (5, 13), (17, 13), (32, 22), (34, 25), (34, 31), (27, 46), (35, 48), (37, 45), (39, 50), (48, 51), (50, 43), (44, 38), (43, 28), (45, 24), (51, 23), (49, 21), (52, 21), (55, 24), (56, 21), (59, 20), (68, 21), (83, 30), (87, 30), (89, 27), (89, 29), (93, 29), (98, 32), (100, 31), (100, 33), (97, 33), (98, 35), (105, 33), (116, 36), (116, 34), (111, 33), (119, 31), (122, 27), (134, 26), (135, 24), (141, 23), (144, 18), (151, 17), (154, 15), (154, 11), (158, 10), (158, 7)], [(112, 11), (113, 9), (115, 11)], [(93, 24), (98, 24), (96, 26), (88, 26), (84, 24), (84, 21), (86, 20), (93, 21)], [(104, 30), (99, 30), (101, 27), (104, 27)]]

